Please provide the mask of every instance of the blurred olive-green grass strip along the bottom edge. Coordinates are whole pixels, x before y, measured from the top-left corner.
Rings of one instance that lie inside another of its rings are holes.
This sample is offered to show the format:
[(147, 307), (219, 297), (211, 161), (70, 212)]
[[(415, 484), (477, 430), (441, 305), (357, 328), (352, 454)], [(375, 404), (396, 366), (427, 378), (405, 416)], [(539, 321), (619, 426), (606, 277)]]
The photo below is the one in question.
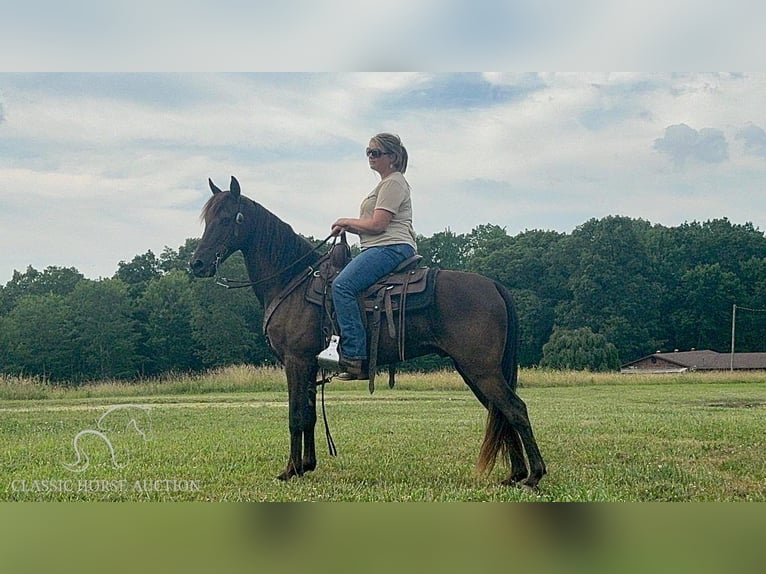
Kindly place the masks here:
[[(3, 505), (5, 572), (762, 570), (756, 505)], [(44, 546), (44, 550), (41, 550)]]

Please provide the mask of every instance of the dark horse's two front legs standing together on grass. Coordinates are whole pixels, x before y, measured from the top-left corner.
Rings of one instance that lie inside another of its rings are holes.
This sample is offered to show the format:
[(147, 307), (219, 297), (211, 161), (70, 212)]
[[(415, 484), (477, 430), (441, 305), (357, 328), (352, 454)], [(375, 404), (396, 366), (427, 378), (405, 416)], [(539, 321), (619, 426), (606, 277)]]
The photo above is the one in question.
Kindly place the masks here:
[[(285, 359), (289, 404), (290, 458), (278, 476), (288, 480), (316, 468), (314, 426), (316, 424), (316, 366), (312, 360)], [(305, 448), (305, 458), (304, 458)]]

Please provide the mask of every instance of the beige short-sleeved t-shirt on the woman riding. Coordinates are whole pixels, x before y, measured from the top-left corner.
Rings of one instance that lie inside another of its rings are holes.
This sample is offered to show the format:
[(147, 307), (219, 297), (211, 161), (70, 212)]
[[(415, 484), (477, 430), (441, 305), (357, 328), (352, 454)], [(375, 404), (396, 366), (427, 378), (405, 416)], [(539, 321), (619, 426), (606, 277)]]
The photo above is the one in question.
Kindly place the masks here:
[(417, 251), (415, 230), (412, 228), (410, 185), (401, 172), (396, 171), (382, 179), (370, 195), (364, 198), (359, 208), (359, 217), (362, 219), (372, 217), (376, 209), (390, 211), (394, 217), (383, 233), (378, 235), (360, 233), (359, 240), (362, 248), (406, 243)]

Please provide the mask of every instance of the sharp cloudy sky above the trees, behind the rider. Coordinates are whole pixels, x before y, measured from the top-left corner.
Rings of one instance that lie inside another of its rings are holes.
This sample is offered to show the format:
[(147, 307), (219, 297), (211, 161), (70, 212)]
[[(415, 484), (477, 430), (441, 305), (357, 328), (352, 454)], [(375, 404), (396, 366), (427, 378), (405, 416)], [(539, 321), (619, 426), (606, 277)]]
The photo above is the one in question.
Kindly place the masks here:
[(177, 249), (208, 178), (324, 238), (377, 184), (379, 132), (409, 151), (424, 236), (609, 215), (763, 230), (765, 103), (764, 73), (2, 73), (0, 284)]

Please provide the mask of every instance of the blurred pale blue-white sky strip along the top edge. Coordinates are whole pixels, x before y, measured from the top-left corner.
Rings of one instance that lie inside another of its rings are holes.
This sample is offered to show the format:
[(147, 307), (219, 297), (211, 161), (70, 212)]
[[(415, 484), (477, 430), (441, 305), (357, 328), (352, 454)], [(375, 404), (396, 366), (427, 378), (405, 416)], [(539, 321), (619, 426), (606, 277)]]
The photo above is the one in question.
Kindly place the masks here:
[(385, 8), (370, 0), (31, 1), (3, 13), (0, 64), (15, 71), (755, 68), (763, 16), (756, 0), (387, 0)]

